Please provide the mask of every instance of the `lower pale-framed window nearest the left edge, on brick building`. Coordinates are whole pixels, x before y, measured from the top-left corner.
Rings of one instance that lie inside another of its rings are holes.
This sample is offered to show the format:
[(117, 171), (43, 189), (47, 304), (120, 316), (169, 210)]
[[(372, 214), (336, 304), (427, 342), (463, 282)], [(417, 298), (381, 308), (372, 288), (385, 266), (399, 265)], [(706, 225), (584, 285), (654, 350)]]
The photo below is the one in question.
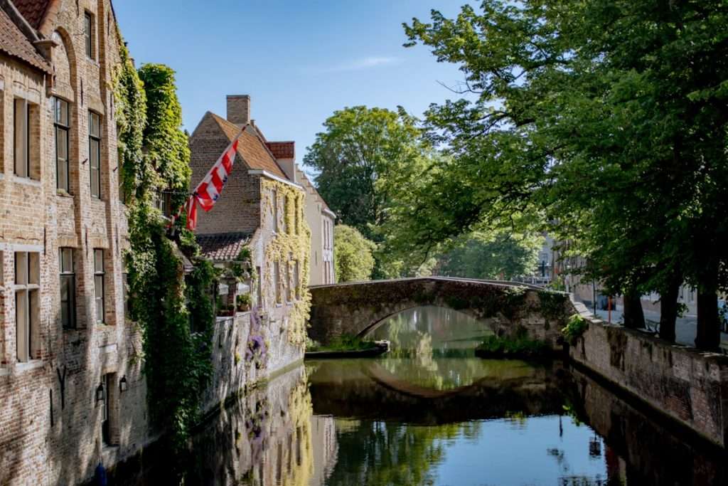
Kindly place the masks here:
[(15, 252), (15, 337), (17, 361), (38, 356), (40, 255)]

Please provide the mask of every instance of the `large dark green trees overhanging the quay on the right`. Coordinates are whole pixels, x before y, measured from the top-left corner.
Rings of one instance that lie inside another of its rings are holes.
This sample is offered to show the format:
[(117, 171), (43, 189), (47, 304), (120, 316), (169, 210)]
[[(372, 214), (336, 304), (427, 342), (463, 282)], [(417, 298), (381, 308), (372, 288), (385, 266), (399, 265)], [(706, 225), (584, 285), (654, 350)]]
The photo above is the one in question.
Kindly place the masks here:
[(461, 91), (475, 98), (427, 113), (428, 136), (453, 162), (422, 190), (432, 197), (414, 208), (413, 243), (512, 213), (541, 217), (587, 258), (587, 278), (630, 302), (650, 290), (672, 297), (676, 281), (697, 286), (696, 344), (716, 348), (713, 301), (728, 286), (728, 6), (485, 0), (481, 9), (405, 25), (408, 45), (461, 66)]

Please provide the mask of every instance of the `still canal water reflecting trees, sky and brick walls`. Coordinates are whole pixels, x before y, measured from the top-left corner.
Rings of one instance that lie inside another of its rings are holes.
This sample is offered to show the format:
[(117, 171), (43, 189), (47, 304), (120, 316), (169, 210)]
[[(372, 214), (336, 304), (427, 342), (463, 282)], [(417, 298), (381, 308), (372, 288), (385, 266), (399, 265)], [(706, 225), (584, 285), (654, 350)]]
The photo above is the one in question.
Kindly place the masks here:
[(306, 361), (194, 439), (186, 485), (726, 485), (726, 456), (578, 369), (482, 360), (482, 322), (390, 318), (385, 356)]

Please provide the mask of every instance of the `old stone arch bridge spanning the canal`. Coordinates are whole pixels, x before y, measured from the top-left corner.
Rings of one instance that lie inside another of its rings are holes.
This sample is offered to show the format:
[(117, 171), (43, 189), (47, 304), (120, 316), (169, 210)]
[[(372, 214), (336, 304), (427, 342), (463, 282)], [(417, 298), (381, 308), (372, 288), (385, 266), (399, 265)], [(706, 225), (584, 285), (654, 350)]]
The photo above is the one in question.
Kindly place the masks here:
[(576, 312), (568, 294), (504, 281), (424, 277), (311, 287), (309, 337), (328, 342), (341, 334), (364, 336), (387, 318), (436, 305), (486, 320), (498, 335), (527, 332), (554, 348)]

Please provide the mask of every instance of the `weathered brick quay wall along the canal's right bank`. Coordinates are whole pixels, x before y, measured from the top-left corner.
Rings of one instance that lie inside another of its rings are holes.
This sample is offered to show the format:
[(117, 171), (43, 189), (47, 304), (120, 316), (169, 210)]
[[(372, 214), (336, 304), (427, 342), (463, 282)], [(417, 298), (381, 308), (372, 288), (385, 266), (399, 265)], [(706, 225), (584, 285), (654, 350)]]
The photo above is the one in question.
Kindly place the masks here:
[(569, 348), (573, 361), (598, 373), (714, 444), (728, 440), (728, 357), (606, 324), (574, 310), (588, 329)]

